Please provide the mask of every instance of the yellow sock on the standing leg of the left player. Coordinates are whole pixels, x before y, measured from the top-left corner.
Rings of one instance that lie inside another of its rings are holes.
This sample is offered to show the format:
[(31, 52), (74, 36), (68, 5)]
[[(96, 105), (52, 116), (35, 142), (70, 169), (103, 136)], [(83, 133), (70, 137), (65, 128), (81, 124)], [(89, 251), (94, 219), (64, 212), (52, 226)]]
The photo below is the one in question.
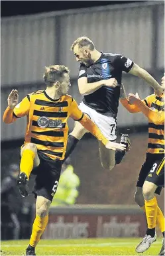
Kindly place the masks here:
[(36, 247), (38, 241), (40, 241), (40, 237), (42, 233), (44, 233), (44, 229), (46, 228), (46, 225), (48, 224), (48, 215), (46, 215), (43, 218), (40, 218), (36, 215), (36, 218), (34, 220), (34, 223), (32, 225), (32, 234), (30, 237), (30, 243), (32, 247)]

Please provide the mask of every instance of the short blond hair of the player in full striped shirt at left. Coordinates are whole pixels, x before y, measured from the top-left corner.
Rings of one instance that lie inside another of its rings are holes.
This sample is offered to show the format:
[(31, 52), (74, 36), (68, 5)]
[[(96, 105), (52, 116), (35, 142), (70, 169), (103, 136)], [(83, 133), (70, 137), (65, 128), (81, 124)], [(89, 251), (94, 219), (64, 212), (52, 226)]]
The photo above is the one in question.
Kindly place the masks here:
[(70, 70), (64, 65), (52, 65), (45, 67), (43, 77), (46, 86), (52, 86), (52, 84), (61, 80), (65, 73), (69, 74)]

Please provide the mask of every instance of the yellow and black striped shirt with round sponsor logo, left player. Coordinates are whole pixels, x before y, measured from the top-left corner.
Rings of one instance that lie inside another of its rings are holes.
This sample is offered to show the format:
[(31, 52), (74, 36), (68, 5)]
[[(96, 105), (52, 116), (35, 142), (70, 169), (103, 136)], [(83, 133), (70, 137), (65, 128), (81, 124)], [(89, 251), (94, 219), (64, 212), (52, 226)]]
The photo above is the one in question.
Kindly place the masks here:
[(68, 140), (68, 117), (80, 120), (82, 111), (72, 96), (51, 99), (45, 91), (28, 94), (13, 110), (15, 117), (27, 115), (25, 144), (34, 143), (51, 159), (64, 159)]

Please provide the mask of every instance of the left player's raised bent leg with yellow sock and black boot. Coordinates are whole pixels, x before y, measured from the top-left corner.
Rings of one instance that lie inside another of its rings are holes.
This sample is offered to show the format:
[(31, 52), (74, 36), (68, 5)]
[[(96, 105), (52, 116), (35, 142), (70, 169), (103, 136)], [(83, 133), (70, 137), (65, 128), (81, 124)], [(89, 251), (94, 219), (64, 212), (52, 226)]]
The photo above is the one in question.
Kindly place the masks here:
[(40, 164), (36, 145), (28, 143), (21, 149), (20, 174), (17, 178), (17, 185), (21, 196), (28, 196), (28, 180), (33, 167)]

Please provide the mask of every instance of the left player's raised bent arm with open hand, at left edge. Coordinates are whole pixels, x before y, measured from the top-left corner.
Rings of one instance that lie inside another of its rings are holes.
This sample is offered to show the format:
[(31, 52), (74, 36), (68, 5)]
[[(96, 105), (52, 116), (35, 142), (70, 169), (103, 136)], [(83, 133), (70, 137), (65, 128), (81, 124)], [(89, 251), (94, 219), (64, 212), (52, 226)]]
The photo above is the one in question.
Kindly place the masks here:
[[(25, 97), (19, 103), (19, 93), (17, 90), (12, 90), (7, 98), (8, 107), (3, 114), (4, 123), (13, 123), (17, 118), (28, 114), (30, 108), (30, 99)], [(18, 104), (19, 103), (19, 104)]]

